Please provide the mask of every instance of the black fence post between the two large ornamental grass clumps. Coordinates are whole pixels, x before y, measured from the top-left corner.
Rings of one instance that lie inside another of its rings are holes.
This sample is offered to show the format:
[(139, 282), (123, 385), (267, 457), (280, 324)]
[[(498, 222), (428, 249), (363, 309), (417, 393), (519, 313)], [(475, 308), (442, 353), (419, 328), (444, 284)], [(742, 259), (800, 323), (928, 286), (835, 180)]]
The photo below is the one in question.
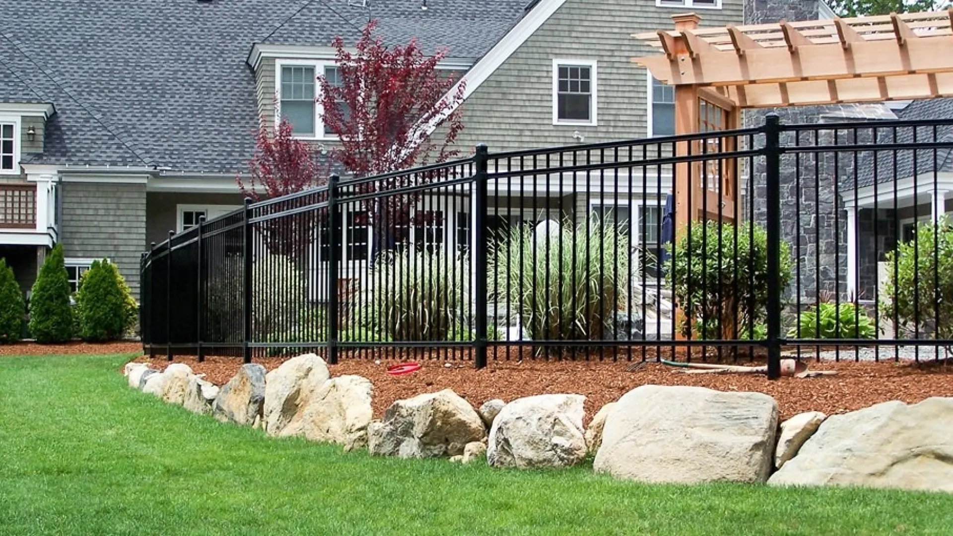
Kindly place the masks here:
[(474, 338), (474, 365), (476, 368), (486, 367), (486, 306), (487, 306), (487, 257), (489, 249), (486, 236), (486, 197), (487, 197), (487, 161), (489, 160), (489, 149), (486, 144), (480, 143), (476, 146), (476, 155), (474, 164), (476, 165), (476, 175), (474, 175), (475, 192), (474, 196), (474, 260), (476, 270), (476, 280), (474, 281), (474, 329), (476, 337)]

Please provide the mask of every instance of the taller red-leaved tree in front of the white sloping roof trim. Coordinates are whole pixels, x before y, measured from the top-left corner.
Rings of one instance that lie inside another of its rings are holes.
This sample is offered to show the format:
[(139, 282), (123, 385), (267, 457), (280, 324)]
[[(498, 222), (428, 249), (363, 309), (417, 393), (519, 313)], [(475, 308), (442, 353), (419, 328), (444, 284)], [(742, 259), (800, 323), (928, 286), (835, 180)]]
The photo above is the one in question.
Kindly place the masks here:
[[(387, 47), (374, 35), (376, 21), (364, 28), (355, 52), (333, 43), (336, 80), (319, 76), (328, 132), (338, 133), (333, 157), (357, 177), (388, 174), (443, 162), (458, 155), (453, 149), (463, 129), (460, 103), (464, 83), (454, 88), (452, 76), (437, 72), (447, 51), (424, 54), (416, 39), (406, 46)], [(434, 134), (440, 128), (440, 134)], [(355, 186), (356, 193), (384, 193), (433, 179), (427, 174), (403, 174)], [(374, 196), (362, 201), (375, 231), (376, 252), (395, 245), (396, 229), (407, 225), (418, 195)]]

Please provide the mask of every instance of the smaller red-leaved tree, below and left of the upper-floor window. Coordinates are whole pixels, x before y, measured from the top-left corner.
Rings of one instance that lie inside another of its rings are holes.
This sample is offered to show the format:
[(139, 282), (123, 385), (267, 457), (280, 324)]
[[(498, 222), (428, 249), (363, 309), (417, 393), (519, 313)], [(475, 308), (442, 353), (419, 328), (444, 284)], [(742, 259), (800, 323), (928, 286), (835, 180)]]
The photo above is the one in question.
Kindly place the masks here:
[[(320, 186), (327, 180), (321, 171), (322, 166), (311, 146), (294, 138), (292, 125), (287, 119), (281, 119), (274, 129), (274, 135), (262, 120), (255, 137), (254, 155), (249, 162), (249, 180), (246, 183), (241, 176), (235, 180), (243, 196), (253, 201), (263, 201)], [(258, 212), (261, 213), (259, 216), (276, 214), (315, 200), (310, 196), (297, 197), (276, 202)], [(261, 222), (257, 230), (264, 237), (270, 252), (296, 260), (312, 243), (318, 216), (321, 215), (280, 216)]]

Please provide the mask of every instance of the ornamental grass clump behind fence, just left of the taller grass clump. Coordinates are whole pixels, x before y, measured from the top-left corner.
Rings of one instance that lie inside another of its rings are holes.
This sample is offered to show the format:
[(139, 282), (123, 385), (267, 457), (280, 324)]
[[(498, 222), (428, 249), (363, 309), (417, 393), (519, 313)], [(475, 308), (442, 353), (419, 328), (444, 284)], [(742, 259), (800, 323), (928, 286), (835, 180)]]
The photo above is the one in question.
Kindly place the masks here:
[(377, 256), (362, 304), (370, 340), (455, 340), (469, 316), (470, 268), (465, 256), (401, 248)]

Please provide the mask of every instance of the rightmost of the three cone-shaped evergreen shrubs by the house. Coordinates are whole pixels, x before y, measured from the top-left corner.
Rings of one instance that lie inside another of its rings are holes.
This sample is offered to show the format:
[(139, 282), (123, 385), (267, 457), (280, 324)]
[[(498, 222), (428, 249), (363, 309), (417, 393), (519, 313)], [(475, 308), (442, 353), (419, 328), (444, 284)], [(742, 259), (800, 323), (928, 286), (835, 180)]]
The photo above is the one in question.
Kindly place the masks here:
[(107, 259), (93, 261), (76, 291), (80, 338), (87, 342), (122, 338), (132, 320), (130, 298), (129, 287), (115, 264)]

